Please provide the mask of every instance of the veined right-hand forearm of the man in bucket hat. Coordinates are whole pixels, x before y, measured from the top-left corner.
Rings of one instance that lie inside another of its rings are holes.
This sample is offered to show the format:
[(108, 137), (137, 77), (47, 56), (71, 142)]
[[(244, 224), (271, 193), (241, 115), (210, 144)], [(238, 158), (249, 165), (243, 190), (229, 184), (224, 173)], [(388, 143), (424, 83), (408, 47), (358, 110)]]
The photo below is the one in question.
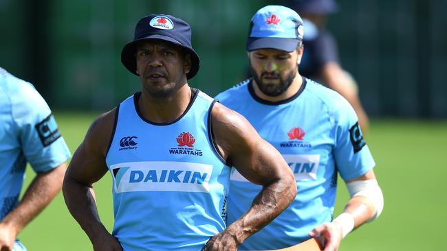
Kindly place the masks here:
[(233, 231), (237, 242), (242, 243), (283, 212), (295, 196), (296, 184), (293, 177), (266, 184), (254, 198), (250, 209), (228, 226), (228, 230)]

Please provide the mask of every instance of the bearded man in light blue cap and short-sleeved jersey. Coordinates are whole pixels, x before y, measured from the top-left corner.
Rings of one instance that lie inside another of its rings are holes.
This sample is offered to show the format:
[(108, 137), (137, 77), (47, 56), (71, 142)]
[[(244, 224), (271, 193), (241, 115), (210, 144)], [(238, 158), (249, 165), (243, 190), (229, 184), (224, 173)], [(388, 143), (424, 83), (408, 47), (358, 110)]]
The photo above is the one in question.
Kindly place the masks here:
[[(298, 73), (303, 33), (303, 21), (294, 10), (261, 8), (252, 17), (247, 41), (253, 77), (216, 97), (279, 150), (298, 189), (294, 202), (246, 239), (241, 250), (286, 248), (311, 237), (323, 237), (325, 250), (337, 250), (342, 237), (382, 211), (375, 163), (353, 108), (335, 91)], [(333, 219), (338, 173), (351, 199)], [(232, 170), (228, 224), (243, 215), (259, 189)]]

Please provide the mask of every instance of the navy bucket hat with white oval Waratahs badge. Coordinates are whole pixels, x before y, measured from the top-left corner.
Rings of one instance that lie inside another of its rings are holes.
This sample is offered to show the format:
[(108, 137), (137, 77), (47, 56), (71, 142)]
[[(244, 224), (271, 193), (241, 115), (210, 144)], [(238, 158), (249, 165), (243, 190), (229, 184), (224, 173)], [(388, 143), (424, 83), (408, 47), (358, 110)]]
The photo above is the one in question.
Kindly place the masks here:
[(159, 39), (179, 45), (187, 49), (191, 56), (191, 69), (186, 74), (188, 80), (199, 71), (200, 58), (191, 45), (191, 28), (182, 19), (165, 14), (151, 14), (144, 16), (135, 26), (133, 41), (124, 45), (121, 51), (121, 62), (131, 73), (138, 75), (135, 58), (135, 45), (144, 40)]

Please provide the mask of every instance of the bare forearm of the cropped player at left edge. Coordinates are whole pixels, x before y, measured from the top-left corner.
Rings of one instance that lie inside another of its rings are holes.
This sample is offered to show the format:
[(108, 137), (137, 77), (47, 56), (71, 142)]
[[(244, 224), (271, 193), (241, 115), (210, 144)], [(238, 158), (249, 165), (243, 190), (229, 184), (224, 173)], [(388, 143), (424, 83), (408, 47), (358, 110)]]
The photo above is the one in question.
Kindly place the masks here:
[(64, 174), (65, 163), (46, 173), (36, 174), (17, 208), (8, 213), (0, 223), (1, 250), (6, 246), (12, 250), (19, 232), (61, 191)]

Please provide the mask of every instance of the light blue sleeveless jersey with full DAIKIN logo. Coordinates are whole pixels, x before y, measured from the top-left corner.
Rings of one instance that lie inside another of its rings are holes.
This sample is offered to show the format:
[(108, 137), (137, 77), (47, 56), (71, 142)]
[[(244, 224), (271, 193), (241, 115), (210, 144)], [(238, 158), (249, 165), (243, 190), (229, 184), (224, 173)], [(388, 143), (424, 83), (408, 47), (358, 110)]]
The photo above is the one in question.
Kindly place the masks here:
[(113, 235), (124, 250), (201, 250), (226, 228), (230, 181), (210, 132), (214, 101), (196, 91), (173, 123), (145, 121), (137, 93), (118, 106), (107, 154)]

